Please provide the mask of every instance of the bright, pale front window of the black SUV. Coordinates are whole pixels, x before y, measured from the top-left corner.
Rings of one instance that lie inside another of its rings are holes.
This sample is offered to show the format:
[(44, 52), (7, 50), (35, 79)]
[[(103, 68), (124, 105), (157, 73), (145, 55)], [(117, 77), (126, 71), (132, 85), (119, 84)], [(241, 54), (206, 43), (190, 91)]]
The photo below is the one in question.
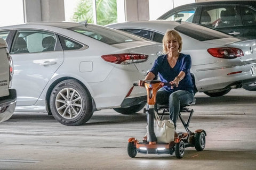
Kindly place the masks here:
[(186, 22), (192, 22), (194, 18), (194, 14), (196, 11), (196, 7), (183, 9), (181, 11), (177, 11), (175, 13), (171, 13), (169, 15), (166, 15), (163, 20), (170, 20), (170, 21), (186, 21)]

